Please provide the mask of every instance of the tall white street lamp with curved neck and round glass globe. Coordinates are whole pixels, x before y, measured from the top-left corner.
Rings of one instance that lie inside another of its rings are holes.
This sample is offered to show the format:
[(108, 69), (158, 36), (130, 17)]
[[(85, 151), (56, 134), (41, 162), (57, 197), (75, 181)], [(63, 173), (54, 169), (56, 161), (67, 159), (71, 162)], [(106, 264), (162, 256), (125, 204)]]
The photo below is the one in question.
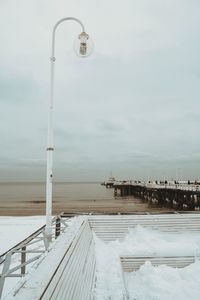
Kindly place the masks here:
[(74, 50), (80, 57), (87, 57), (92, 52), (92, 41), (85, 32), (82, 22), (73, 17), (67, 17), (59, 20), (53, 27), (52, 46), (51, 46), (51, 81), (50, 81), (50, 99), (49, 99), (49, 115), (48, 115), (48, 139), (47, 139), (47, 177), (46, 177), (46, 227), (45, 240), (49, 245), (52, 239), (52, 179), (53, 179), (53, 100), (54, 100), (54, 67), (55, 67), (55, 35), (57, 27), (64, 21), (75, 21), (81, 26), (81, 33), (78, 35)]

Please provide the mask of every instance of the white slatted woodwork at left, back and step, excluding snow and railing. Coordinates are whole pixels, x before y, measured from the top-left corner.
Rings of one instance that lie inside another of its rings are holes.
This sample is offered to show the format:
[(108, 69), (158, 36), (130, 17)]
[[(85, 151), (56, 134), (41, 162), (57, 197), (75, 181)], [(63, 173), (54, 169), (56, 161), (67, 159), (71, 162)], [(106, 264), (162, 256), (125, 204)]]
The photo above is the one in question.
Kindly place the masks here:
[[(64, 217), (64, 215), (63, 215)], [(123, 239), (129, 228), (137, 225), (163, 232), (184, 233), (200, 229), (200, 214), (160, 214), (129, 216), (79, 216), (52, 245), (49, 252), (39, 258), (35, 270), (24, 278), (24, 283), (5, 300), (48, 300), (95, 299), (96, 254), (93, 232), (105, 242)], [(185, 267), (195, 261), (193, 256), (134, 256), (117, 257), (123, 272), (137, 270), (150, 260), (153, 265), (168, 264), (172, 267)], [(121, 298), (128, 299), (125, 282), (121, 276)]]

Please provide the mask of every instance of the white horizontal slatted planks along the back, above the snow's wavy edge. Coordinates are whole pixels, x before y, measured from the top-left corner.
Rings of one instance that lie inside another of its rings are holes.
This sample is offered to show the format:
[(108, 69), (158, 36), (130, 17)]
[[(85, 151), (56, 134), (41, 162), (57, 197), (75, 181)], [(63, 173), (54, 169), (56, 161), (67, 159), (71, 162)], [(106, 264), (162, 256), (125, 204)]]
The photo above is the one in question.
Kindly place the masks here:
[(138, 225), (163, 232), (200, 231), (200, 214), (89, 216), (91, 229), (104, 241), (123, 239), (129, 228)]

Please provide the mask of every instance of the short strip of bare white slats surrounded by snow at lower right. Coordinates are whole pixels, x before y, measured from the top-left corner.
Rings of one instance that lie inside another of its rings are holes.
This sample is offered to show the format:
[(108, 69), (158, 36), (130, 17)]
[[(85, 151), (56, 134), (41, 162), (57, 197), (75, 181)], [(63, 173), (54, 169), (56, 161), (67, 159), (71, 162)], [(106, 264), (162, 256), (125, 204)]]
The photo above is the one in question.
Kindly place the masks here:
[(146, 262), (150, 261), (153, 266), (167, 265), (173, 268), (184, 268), (195, 262), (194, 256), (121, 256), (122, 268), (124, 272), (133, 272), (140, 269)]

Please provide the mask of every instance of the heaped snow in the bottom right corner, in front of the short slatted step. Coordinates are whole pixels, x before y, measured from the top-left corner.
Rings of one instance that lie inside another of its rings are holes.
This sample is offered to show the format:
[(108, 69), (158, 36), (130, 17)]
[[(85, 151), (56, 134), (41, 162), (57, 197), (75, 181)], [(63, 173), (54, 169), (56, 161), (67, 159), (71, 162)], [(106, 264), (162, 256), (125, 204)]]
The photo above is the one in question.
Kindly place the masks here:
[(199, 300), (199, 273), (200, 261), (182, 269), (165, 265), (153, 267), (147, 261), (138, 272), (126, 273), (125, 281), (130, 299)]

